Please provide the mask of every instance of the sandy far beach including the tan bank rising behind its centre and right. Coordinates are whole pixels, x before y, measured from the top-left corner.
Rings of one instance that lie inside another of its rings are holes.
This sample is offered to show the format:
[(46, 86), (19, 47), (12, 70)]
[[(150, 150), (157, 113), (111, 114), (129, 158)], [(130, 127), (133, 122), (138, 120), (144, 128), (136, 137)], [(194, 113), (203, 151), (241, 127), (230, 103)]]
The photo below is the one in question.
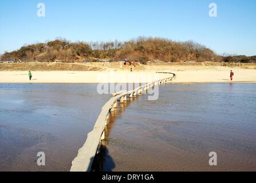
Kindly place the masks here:
[[(76, 64), (76, 63), (74, 63)], [(73, 64), (73, 65), (74, 65)], [(76, 64), (77, 65), (77, 64)], [(6, 71), (0, 65), (0, 82), (2, 83), (137, 83), (152, 82), (169, 77), (170, 74), (159, 74), (157, 71), (168, 71), (177, 75), (174, 83), (230, 82), (230, 70), (234, 71), (232, 82), (256, 82), (256, 69), (245, 69), (246, 66), (231, 67), (215, 65), (148, 65), (133, 67), (120, 66), (119, 63), (86, 63), (82, 66), (96, 70), (46, 70), (34, 71), (30, 67), (22, 70)], [(251, 65), (250, 65), (251, 66)], [(252, 67), (252, 66), (251, 66)], [(19, 68), (18, 68), (19, 69)], [(27, 70), (26, 70), (27, 69)], [(33, 67), (34, 69), (34, 67)], [(33, 78), (27, 75), (31, 70)]]

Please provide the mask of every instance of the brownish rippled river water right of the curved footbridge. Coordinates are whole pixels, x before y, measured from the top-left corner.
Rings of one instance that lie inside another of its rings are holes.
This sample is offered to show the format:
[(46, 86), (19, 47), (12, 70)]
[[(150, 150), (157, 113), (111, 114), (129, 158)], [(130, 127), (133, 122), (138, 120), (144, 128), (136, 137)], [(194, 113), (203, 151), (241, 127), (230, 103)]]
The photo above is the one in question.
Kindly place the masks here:
[(161, 86), (112, 113), (105, 143), (104, 171), (255, 171), (256, 84)]

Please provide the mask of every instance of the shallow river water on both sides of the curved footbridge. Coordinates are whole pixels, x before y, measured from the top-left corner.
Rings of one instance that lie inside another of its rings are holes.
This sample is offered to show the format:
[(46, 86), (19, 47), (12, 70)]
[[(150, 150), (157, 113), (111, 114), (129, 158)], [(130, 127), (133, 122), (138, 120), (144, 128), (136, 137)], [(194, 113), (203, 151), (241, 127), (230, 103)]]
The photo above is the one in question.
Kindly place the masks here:
[[(68, 171), (110, 95), (94, 84), (0, 84), (0, 170)], [(170, 84), (111, 113), (103, 171), (256, 170), (256, 84)], [(44, 152), (45, 166), (37, 165)], [(217, 166), (210, 166), (210, 152)]]

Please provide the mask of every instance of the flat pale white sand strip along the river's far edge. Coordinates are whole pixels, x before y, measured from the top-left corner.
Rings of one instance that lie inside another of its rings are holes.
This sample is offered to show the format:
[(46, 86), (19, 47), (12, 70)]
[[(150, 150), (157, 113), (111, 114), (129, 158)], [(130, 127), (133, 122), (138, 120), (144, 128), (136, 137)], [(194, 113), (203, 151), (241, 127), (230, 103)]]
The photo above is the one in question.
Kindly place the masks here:
[[(219, 67), (215, 69), (189, 69), (179, 71), (171, 68), (165, 71), (177, 75), (175, 83), (230, 82), (230, 70), (234, 71), (233, 82), (256, 82), (255, 69)], [(156, 71), (156, 70), (155, 70)], [(155, 71), (31, 71), (29, 81), (27, 71), (0, 71), (2, 83), (103, 83), (103, 82), (151, 82), (170, 77), (170, 74), (157, 74)], [(158, 70), (159, 71), (159, 70)]]

